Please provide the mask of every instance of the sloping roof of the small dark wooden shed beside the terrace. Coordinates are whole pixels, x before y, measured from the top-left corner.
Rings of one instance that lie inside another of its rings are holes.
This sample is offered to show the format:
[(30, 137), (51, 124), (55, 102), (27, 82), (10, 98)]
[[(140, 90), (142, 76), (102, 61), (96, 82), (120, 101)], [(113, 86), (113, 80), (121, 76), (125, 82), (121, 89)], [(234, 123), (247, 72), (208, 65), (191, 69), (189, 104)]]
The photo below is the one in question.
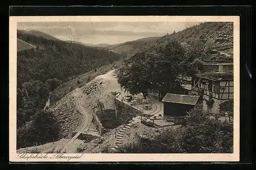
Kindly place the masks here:
[(196, 105), (199, 97), (200, 97), (199, 95), (181, 95), (181, 94), (167, 93), (164, 96), (162, 102)]

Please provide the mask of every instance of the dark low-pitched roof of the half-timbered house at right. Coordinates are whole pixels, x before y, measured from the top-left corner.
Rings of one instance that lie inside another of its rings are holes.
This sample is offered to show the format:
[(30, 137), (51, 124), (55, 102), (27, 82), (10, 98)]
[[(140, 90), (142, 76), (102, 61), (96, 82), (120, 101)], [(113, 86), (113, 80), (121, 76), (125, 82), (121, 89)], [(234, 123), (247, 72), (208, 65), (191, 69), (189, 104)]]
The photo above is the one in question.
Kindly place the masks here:
[(223, 80), (233, 80), (233, 73), (232, 72), (209, 72), (203, 74), (195, 75), (199, 78), (214, 80), (214, 81), (223, 81)]

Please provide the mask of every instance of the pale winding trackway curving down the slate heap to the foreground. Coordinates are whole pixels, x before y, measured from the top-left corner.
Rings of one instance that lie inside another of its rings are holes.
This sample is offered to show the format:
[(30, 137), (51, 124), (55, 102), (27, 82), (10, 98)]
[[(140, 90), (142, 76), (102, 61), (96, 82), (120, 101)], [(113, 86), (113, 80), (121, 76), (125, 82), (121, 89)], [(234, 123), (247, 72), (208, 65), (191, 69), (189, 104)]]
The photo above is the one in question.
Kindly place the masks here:
[(88, 113), (88, 111), (86, 111), (81, 103), (81, 98), (82, 98), (82, 92), (80, 91), (80, 89), (75, 89), (74, 91), (75, 96), (77, 97), (77, 103), (76, 103), (76, 107), (79, 110), (80, 113), (83, 114), (83, 124), (82, 127), (79, 129), (79, 131), (61, 148), (60, 153), (62, 153), (63, 151), (65, 151), (68, 147), (68, 145), (70, 145), (86, 128), (88, 128), (90, 126), (90, 115)]

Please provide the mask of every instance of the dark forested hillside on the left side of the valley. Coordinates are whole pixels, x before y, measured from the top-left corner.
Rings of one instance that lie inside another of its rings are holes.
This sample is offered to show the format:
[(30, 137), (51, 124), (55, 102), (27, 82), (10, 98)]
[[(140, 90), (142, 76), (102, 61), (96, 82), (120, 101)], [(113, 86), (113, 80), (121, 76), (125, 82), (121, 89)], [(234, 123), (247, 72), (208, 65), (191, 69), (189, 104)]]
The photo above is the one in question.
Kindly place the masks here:
[[(120, 55), (24, 32), (17, 32), (17, 38), (36, 46), (35, 49), (17, 52), (17, 148), (20, 148), (35, 144), (30, 139), (36, 134), (44, 135), (33, 127), (39, 124), (36, 121), (42, 121), (42, 125), (47, 121), (52, 128), (55, 126), (54, 114), (42, 111), (50, 91), (77, 75), (118, 61)], [(50, 120), (38, 118), (44, 113)], [(45, 143), (54, 135), (45, 134), (44, 141), (36, 142)]]

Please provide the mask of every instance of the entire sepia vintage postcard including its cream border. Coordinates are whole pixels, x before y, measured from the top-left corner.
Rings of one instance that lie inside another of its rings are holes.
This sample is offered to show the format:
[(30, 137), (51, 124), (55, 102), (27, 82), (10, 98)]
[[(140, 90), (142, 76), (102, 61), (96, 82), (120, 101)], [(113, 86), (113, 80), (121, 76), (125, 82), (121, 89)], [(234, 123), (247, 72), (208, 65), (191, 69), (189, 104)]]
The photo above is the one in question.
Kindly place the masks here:
[(10, 16), (10, 161), (239, 161), (239, 16)]

